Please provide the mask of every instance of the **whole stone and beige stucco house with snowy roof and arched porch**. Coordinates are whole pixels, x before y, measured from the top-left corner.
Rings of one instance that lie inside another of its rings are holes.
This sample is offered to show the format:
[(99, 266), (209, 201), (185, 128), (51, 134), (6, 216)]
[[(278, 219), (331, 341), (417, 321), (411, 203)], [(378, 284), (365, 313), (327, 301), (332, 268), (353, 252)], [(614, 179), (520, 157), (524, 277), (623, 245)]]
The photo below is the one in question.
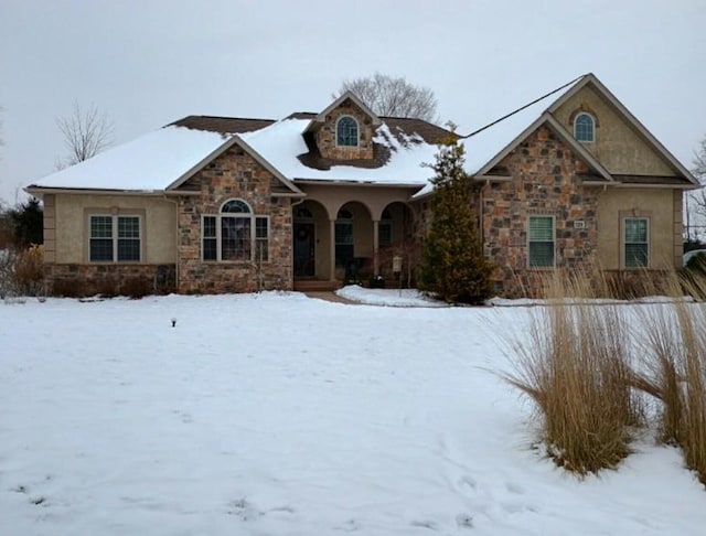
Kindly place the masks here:
[[(675, 269), (695, 178), (592, 74), (463, 140), (499, 291), (555, 267)], [(279, 120), (190, 116), (49, 175), (50, 291), (240, 292), (414, 264), (437, 143), (346, 93)], [(361, 275), (359, 274), (359, 276)]]

